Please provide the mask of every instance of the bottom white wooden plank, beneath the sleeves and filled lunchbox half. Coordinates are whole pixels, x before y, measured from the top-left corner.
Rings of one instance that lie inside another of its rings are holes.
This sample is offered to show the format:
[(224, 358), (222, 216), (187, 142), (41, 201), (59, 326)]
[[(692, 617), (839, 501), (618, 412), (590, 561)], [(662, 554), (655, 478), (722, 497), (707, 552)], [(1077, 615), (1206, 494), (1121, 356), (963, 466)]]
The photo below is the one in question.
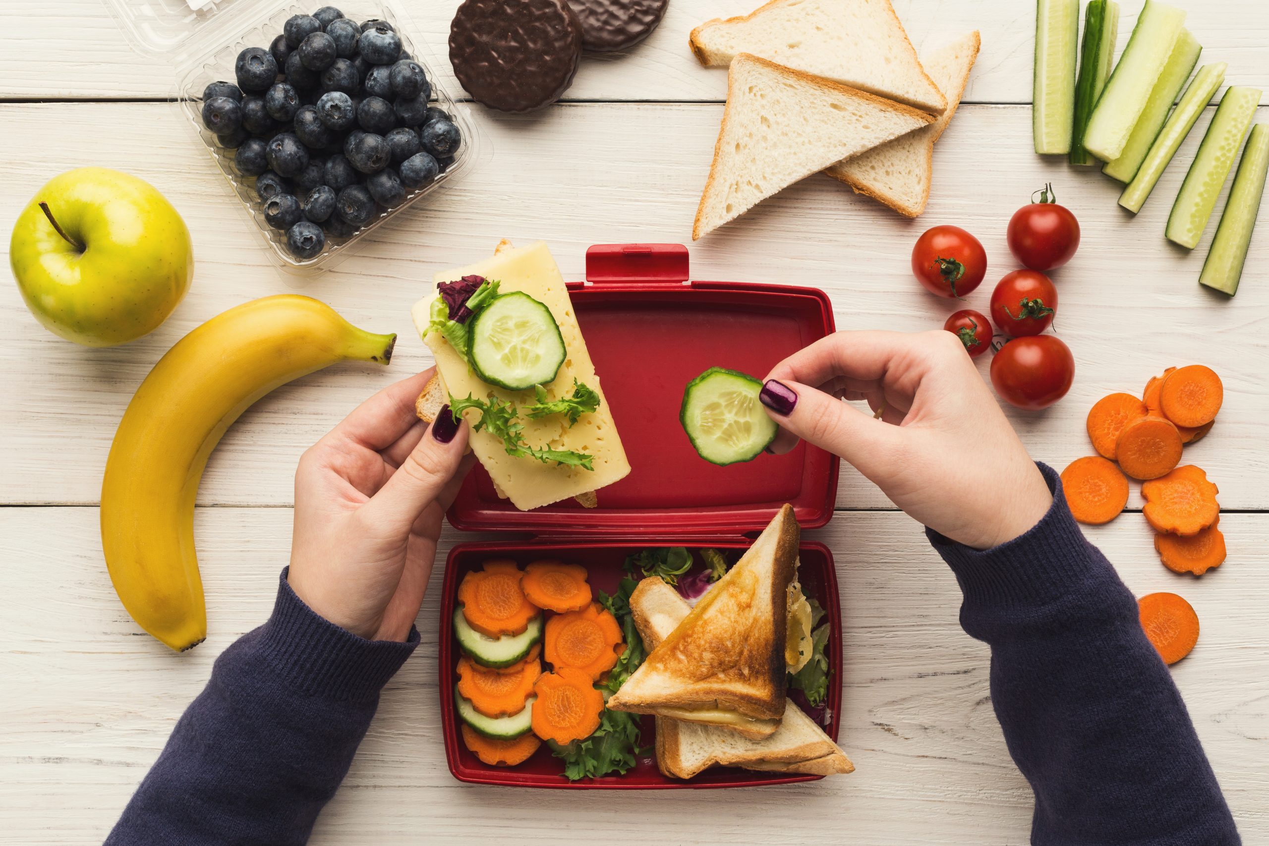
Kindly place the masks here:
[[(1140, 515), (1090, 531), (1137, 594), (1178, 591), (1198, 647), (1173, 670), (1244, 842), (1269, 842), (1269, 515), (1222, 517), (1230, 559), (1202, 580), (1159, 564)], [(0, 509), (0, 843), (100, 842), (211, 672), (268, 616), (289, 509), (201, 509), (209, 637), (175, 654), (141, 633), (102, 566), (96, 509)], [(388, 684), (315, 845), (555, 843), (622, 830), (640, 842), (1005, 845), (1028, 838), (1030, 790), (991, 710), (989, 651), (957, 624), (959, 590), (912, 520), (839, 514), (824, 530), (843, 602), (840, 743), (853, 775), (736, 793), (557, 793), (454, 781), (435, 681), (440, 572), (423, 644)], [(470, 538), (470, 537), (468, 537)], [(459, 539), (447, 533), (448, 547)], [(712, 813), (718, 803), (726, 813)], [(500, 823), (499, 821), (515, 821)], [(561, 823), (561, 821), (566, 821)]]

